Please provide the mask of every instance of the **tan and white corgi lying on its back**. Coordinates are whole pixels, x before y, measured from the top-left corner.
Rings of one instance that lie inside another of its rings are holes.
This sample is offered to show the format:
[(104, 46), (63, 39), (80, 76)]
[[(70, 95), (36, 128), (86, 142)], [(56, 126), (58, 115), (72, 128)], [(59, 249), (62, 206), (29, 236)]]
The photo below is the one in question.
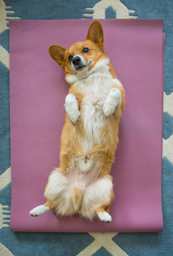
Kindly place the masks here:
[(39, 216), (98, 216), (111, 222), (114, 199), (111, 165), (118, 144), (119, 122), (125, 108), (125, 91), (103, 48), (98, 21), (89, 27), (86, 41), (64, 49), (51, 45), (49, 54), (64, 70), (69, 85), (65, 123), (61, 135), (60, 167), (49, 176), (47, 202), (30, 211)]

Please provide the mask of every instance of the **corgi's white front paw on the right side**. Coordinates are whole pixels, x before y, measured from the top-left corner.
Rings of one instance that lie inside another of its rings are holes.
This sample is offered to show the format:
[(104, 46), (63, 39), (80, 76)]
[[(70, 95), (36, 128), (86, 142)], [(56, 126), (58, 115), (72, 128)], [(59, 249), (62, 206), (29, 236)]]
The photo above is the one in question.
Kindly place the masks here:
[(113, 114), (118, 105), (121, 105), (121, 92), (118, 88), (112, 88), (103, 105), (104, 116)]

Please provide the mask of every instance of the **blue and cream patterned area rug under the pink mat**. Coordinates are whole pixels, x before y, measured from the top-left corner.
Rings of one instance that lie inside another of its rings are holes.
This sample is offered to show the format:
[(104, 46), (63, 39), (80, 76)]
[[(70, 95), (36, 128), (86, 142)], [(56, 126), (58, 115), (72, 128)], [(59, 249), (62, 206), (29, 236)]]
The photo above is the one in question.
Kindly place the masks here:
[[(172, 255), (173, 5), (171, 0), (0, 0), (0, 255)], [(11, 19), (164, 19), (162, 233), (11, 232), (9, 25)]]

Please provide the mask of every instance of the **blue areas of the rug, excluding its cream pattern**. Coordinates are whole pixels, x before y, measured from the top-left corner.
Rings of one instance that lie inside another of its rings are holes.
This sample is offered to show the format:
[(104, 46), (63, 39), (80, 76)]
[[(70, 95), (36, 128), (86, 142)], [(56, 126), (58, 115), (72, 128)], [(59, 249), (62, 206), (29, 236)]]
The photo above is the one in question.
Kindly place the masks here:
[[(20, 19), (81, 19), (86, 17), (84, 13), (93, 13), (92, 10), (86, 10), (85, 8), (92, 8), (99, 1), (4, 0), (3, 2), (6, 6), (12, 7), (9, 10), (14, 11), (13, 14), (7, 14), (7, 16), (20, 17)], [(164, 19), (164, 92), (166, 95), (171, 95), (173, 92), (172, 0), (122, 0), (121, 2), (128, 9), (135, 10), (134, 13), (130, 14), (131, 16), (137, 16), (140, 19)], [(105, 10), (105, 17), (116, 18), (116, 11), (111, 7), (107, 8)], [(92, 18), (92, 16), (88, 16), (88, 18)], [(9, 30), (4, 30), (0, 33), (0, 45), (9, 52)], [(0, 174), (2, 174), (10, 167), (10, 98), (9, 69), (1, 62), (0, 86)], [(165, 112), (163, 138), (167, 140), (171, 136), (173, 136), (173, 116)], [(173, 162), (164, 157), (162, 168), (163, 232), (118, 233), (112, 240), (125, 251), (126, 255), (173, 255), (172, 180)], [(3, 206), (7, 205), (8, 208), (5, 210), (10, 210), (11, 184), (0, 191), (0, 204)], [(9, 220), (9, 217), (3, 219), (3, 222), (5, 220)], [(78, 255), (93, 241), (94, 238), (88, 233), (27, 233), (11, 232), (9, 227), (0, 229), (0, 242), (15, 256)], [(93, 255), (105, 256), (111, 254), (101, 247)], [(117, 254), (115, 253), (115, 255)]]

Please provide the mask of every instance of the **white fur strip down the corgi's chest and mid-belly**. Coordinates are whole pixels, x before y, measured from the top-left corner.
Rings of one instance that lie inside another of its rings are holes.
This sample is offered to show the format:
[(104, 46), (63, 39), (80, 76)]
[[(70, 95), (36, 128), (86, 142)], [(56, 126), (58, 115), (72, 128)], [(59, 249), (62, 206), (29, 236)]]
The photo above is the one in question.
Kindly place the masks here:
[[(80, 119), (83, 121), (85, 136), (82, 140), (83, 151), (87, 156), (88, 150), (94, 143), (100, 144), (100, 131), (107, 122), (103, 114), (103, 104), (112, 86), (113, 78), (109, 71), (95, 72), (89, 77), (79, 80), (74, 86), (83, 94), (80, 107)], [(78, 159), (80, 171), (87, 172), (92, 168), (93, 159)]]

